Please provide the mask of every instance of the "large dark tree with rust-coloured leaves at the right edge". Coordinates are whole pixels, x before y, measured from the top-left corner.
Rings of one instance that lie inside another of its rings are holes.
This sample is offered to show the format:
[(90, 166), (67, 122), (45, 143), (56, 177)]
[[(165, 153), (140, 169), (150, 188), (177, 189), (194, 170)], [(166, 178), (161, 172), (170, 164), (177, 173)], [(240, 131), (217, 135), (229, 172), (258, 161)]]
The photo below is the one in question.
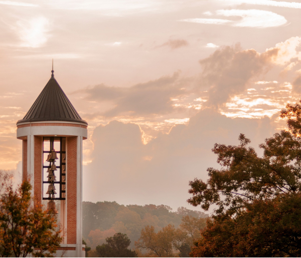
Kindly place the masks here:
[(217, 206), (191, 255), (301, 256), (301, 106), (280, 117), (288, 130), (259, 145), (262, 157), (240, 134), (238, 146), (214, 145), (222, 168), (208, 168), (207, 183), (190, 182), (189, 203)]

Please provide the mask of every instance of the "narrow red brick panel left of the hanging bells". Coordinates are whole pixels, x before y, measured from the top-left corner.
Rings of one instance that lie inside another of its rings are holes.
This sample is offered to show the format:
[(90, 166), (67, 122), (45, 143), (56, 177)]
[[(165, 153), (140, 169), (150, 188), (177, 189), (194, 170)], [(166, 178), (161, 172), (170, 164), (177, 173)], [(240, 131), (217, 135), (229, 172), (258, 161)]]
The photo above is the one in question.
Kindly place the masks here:
[(35, 136), (35, 183), (34, 196), (35, 201), (42, 201), (42, 137)]

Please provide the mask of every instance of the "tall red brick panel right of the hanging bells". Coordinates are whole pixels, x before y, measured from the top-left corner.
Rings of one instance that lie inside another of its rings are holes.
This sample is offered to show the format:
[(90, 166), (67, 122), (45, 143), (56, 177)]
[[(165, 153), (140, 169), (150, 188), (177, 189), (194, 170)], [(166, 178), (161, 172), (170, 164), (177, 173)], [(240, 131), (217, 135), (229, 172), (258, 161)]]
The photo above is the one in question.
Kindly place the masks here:
[(67, 244), (76, 244), (77, 136), (67, 137)]

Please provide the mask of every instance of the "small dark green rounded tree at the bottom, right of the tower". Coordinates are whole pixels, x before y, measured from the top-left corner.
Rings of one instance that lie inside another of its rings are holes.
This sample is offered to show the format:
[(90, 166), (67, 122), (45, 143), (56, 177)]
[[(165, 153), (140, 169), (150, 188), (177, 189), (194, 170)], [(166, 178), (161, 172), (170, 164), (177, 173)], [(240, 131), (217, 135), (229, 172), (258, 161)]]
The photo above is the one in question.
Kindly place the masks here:
[(99, 257), (137, 257), (135, 251), (127, 249), (130, 240), (126, 234), (116, 233), (105, 240), (105, 244), (96, 246)]

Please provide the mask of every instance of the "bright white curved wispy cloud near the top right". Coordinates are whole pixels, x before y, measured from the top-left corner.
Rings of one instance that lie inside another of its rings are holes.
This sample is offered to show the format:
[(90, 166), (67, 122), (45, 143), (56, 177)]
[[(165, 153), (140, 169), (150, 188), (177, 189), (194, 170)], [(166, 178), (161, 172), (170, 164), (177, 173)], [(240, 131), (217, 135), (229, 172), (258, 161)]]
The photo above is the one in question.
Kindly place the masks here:
[(284, 25), (287, 21), (281, 15), (263, 10), (218, 10), (217, 15), (226, 17), (240, 16), (242, 20), (235, 22), (234, 27), (268, 28)]

